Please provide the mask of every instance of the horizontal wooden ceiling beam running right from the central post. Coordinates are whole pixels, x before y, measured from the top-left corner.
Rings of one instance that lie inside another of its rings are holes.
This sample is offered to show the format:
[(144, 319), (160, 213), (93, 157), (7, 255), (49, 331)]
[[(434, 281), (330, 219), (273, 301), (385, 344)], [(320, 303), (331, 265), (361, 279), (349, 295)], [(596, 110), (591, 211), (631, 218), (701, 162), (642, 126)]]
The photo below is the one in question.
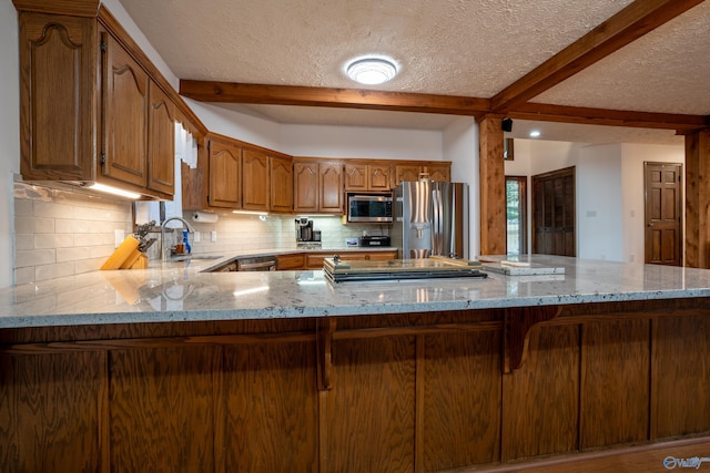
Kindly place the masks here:
[(708, 127), (710, 120), (703, 115), (676, 113), (629, 112), (582, 106), (549, 105), (528, 102), (517, 105), (506, 116), (540, 122), (578, 123), (584, 125), (629, 126), (637, 128), (676, 130), (687, 133)]

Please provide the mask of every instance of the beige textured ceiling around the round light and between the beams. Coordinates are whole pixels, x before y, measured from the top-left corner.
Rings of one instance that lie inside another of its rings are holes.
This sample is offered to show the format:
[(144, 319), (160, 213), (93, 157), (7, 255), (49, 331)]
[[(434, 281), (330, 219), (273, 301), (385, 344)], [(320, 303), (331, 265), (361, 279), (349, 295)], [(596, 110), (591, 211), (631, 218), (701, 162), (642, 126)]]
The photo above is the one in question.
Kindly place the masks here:
[[(645, 0), (640, 0), (645, 1)], [(631, 0), (121, 0), (181, 79), (354, 88), (344, 64), (388, 54), (399, 74), (374, 89), (488, 99)], [(199, 8), (197, 8), (199, 6)], [(560, 105), (710, 114), (706, 1), (534, 99)], [(454, 117), (415, 113), (221, 105), (280, 123), (443, 130)], [(608, 127), (518, 123), (548, 140), (611, 142)], [(548, 132), (549, 130), (549, 132)], [(572, 132), (577, 130), (577, 132)], [(623, 128), (638, 141), (667, 131)], [(560, 135), (559, 133), (562, 133)], [(521, 133), (521, 132), (520, 132)], [(594, 140), (591, 140), (594, 138)]]

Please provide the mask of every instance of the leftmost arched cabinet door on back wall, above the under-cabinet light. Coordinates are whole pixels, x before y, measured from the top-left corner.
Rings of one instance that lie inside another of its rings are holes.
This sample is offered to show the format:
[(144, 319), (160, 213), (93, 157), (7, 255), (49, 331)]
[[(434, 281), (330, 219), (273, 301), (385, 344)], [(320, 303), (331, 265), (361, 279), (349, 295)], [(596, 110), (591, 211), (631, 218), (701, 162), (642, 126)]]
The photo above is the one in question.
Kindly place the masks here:
[(242, 208), (242, 148), (210, 141), (209, 193), (211, 207)]

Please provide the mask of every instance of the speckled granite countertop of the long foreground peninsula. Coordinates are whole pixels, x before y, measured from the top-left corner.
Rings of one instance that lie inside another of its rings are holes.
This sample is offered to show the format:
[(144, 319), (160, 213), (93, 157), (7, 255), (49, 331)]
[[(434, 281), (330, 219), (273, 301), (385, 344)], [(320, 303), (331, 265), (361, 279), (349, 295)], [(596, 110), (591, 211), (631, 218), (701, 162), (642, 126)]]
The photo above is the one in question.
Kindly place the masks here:
[(322, 270), (201, 273), (215, 260), (95, 271), (0, 289), (0, 329), (710, 297), (710, 270), (706, 269), (545, 255), (529, 259), (537, 265), (561, 267), (565, 273), (540, 276), (489, 273), (486, 279), (332, 284), (324, 279)]

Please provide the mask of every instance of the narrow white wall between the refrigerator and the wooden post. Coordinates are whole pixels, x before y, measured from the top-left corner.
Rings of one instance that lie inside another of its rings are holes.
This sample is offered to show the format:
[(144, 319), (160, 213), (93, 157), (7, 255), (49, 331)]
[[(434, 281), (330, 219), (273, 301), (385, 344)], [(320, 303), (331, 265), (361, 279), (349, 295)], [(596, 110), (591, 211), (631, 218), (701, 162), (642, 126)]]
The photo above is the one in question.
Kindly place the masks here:
[(444, 161), (452, 162), (452, 181), (468, 183), (468, 257), (480, 253), (480, 186), (478, 184), (478, 124), (459, 119), (444, 131)]

